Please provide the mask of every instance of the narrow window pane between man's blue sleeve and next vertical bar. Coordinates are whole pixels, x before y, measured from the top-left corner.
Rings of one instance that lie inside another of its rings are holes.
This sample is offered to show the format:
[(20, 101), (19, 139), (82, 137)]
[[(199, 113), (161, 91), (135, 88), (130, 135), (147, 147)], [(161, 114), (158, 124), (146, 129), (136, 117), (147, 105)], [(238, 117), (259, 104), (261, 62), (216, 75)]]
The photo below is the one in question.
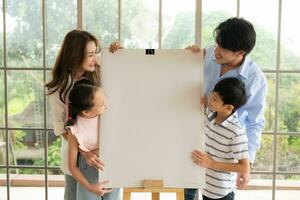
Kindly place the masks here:
[(268, 94), (265, 108), (265, 127), (264, 131), (275, 130), (275, 88), (276, 88), (276, 76), (275, 74), (266, 73)]

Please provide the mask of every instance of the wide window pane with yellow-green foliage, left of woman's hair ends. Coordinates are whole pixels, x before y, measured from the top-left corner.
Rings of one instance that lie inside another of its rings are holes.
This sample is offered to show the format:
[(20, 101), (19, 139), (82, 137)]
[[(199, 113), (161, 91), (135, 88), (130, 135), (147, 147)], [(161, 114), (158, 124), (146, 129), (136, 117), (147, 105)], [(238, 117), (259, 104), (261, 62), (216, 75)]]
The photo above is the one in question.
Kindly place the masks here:
[(8, 71), (8, 126), (42, 128), (44, 83), (42, 71)]

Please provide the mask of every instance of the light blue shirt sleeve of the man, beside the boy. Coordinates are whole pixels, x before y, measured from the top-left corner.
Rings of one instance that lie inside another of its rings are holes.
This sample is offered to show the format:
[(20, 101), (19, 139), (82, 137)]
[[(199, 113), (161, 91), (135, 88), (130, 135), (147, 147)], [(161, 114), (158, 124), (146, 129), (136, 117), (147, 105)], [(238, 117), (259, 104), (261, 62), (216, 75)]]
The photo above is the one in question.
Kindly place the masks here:
[[(254, 83), (249, 89), (246, 105), (241, 108), (241, 118), (245, 118), (244, 126), (248, 137), (249, 161), (251, 163), (254, 162), (256, 151), (260, 147), (261, 133), (265, 124), (264, 110), (267, 95), (267, 83), (263, 75), (261, 80), (255, 80)], [(244, 113), (247, 115), (243, 116)]]

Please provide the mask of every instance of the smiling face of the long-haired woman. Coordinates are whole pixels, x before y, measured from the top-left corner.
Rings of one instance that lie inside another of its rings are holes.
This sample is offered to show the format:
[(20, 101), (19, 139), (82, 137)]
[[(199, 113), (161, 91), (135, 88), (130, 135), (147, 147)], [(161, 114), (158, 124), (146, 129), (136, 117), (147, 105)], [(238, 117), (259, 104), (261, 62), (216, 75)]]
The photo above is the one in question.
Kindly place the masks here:
[(93, 72), (95, 71), (95, 64), (97, 60), (97, 53), (96, 53), (97, 47), (93, 41), (90, 41), (86, 45), (86, 52), (85, 52), (85, 59), (83, 61), (83, 64), (81, 66), (81, 69), (83, 71)]

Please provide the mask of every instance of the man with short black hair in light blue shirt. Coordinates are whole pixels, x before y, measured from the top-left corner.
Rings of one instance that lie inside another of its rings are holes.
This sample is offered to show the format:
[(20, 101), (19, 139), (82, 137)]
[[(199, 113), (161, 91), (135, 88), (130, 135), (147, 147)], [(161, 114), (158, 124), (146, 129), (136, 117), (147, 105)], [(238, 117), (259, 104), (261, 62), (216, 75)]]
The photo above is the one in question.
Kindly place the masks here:
[[(214, 31), (215, 46), (205, 48), (204, 89), (207, 96), (220, 80), (236, 77), (245, 84), (247, 102), (237, 110), (241, 125), (248, 137), (249, 161), (254, 162), (256, 151), (260, 147), (260, 137), (264, 127), (264, 107), (267, 94), (266, 78), (262, 70), (247, 55), (256, 42), (253, 25), (242, 18), (230, 18)], [(199, 47), (188, 47), (198, 52)], [(239, 173), (237, 187), (244, 188), (250, 179), (250, 173)], [(185, 200), (194, 200), (195, 189), (185, 189)]]

